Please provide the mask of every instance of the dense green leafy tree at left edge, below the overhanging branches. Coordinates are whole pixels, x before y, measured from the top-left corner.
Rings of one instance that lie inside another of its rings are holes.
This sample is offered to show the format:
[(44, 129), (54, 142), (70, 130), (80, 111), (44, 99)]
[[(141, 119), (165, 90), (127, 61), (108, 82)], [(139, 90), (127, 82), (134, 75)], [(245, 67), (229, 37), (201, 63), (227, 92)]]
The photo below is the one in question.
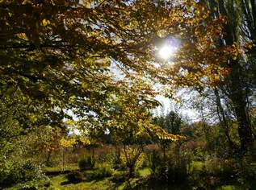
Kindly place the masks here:
[[(61, 126), (61, 122), (57, 120), (58, 118), (54, 117), (54, 112), (48, 112), (43, 107), (34, 105), (33, 101), (24, 99), (19, 90), (11, 96), (2, 96), (0, 110), (0, 151), (4, 151), (1, 154), (0, 163), (10, 158), (13, 150), (20, 147), (23, 138), (27, 137), (28, 144), (29, 138), (38, 132), (38, 128), (44, 131), (46, 126), (54, 126), (56, 122), (59, 122), (56, 126)], [(52, 119), (54, 119), (54, 122), (52, 122)], [(41, 137), (41, 135), (39, 136)], [(20, 148), (26, 149), (26, 147), (26, 145), (23, 145)], [(23, 150), (23, 152), (25, 153), (27, 150)]]

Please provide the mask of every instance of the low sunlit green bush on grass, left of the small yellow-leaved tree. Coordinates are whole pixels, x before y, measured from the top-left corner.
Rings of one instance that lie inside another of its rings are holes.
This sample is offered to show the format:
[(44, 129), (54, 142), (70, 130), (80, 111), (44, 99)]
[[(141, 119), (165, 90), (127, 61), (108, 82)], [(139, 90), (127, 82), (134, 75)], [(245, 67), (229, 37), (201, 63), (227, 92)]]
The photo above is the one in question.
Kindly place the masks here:
[(101, 180), (110, 177), (113, 173), (111, 166), (107, 163), (100, 164), (94, 171), (86, 171), (86, 180)]

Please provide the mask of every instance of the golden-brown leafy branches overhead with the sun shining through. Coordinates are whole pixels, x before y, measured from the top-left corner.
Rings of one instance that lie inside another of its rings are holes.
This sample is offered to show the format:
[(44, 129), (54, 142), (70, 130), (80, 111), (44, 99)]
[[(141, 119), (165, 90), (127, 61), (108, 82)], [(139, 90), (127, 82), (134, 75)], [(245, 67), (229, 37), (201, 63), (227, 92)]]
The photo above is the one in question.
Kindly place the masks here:
[[(206, 5), (193, 0), (1, 1), (1, 95), (19, 90), (59, 118), (70, 118), (66, 111), (72, 110), (105, 127), (151, 128), (146, 124), (156, 105), (153, 85), (168, 85), (169, 94), (180, 87), (202, 92), (229, 76), (227, 60), (253, 47), (251, 42), (219, 45), (228, 16), (213, 17)], [(180, 47), (166, 64), (156, 54), (170, 37)], [(112, 65), (124, 80), (111, 73)], [(161, 138), (178, 138), (155, 131)]]

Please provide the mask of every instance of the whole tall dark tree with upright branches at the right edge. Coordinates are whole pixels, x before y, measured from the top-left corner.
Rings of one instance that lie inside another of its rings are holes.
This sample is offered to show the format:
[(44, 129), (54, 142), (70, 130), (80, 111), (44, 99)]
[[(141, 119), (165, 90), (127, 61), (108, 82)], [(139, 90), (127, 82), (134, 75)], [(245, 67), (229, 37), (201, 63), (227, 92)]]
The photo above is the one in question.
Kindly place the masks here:
[[(233, 54), (225, 63), (230, 73), (225, 77), (220, 89), (229, 98), (233, 113), (238, 122), (241, 152), (246, 152), (253, 142), (252, 127), (248, 110), (250, 109), (250, 93), (254, 93), (250, 72), (254, 70), (255, 51), (255, 2), (254, 1), (218, 1), (209, 2), (212, 17), (227, 18), (220, 39), (220, 47), (226, 44), (233, 47)], [(238, 8), (239, 7), (239, 8)], [(246, 59), (245, 59), (246, 57)]]

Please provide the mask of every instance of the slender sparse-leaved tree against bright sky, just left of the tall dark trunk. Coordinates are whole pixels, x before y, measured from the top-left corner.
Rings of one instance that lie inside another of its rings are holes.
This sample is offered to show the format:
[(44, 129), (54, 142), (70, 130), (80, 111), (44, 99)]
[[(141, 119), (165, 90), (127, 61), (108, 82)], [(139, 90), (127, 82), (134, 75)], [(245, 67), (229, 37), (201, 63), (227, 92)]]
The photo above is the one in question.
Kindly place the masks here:
[(234, 122), (233, 112), (230, 110), (229, 100), (224, 94), (218, 89), (217, 86), (208, 87), (204, 89), (202, 93), (196, 93), (191, 97), (191, 106), (197, 109), (199, 112), (199, 119), (201, 124), (204, 126), (204, 134), (206, 141), (208, 143), (208, 150), (213, 151), (213, 143), (210, 128), (215, 126), (222, 126), (222, 133), (225, 134), (222, 138), (223, 144), (226, 144), (228, 148), (229, 155), (234, 155), (237, 152), (237, 144), (233, 141), (231, 137), (230, 130), (232, 128), (232, 123)]

